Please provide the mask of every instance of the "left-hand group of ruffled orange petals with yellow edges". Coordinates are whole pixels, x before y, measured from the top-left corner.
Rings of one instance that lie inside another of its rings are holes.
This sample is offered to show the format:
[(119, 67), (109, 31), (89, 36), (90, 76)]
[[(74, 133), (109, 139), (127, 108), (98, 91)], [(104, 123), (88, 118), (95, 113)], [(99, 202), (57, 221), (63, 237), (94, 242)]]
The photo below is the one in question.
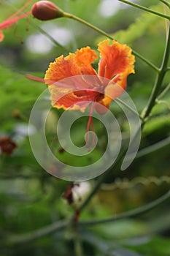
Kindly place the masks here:
[(84, 110), (95, 100), (98, 91), (92, 91), (93, 86), (85, 75), (95, 75), (91, 66), (96, 53), (90, 47), (81, 48), (69, 56), (60, 56), (50, 63), (45, 74), (49, 85), (52, 105), (64, 110)]

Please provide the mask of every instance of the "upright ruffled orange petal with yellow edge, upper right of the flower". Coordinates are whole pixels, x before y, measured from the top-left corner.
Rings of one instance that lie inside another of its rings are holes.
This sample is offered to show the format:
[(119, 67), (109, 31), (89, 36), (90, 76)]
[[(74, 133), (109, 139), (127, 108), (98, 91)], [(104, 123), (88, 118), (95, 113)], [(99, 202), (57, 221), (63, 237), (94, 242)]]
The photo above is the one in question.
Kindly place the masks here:
[(112, 79), (115, 75), (134, 73), (134, 55), (131, 48), (113, 40), (109, 45), (109, 39), (98, 44), (101, 60), (98, 64), (98, 75)]

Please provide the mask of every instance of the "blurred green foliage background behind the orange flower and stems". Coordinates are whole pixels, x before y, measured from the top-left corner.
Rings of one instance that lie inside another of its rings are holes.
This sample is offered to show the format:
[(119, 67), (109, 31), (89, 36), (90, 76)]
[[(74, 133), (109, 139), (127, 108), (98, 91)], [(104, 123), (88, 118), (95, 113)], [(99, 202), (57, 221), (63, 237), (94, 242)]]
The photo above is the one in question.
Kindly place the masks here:
[[(166, 43), (167, 20), (117, 0), (54, 2), (64, 11), (112, 34), (115, 39), (128, 44), (160, 67)], [(161, 1), (136, 2), (170, 15)], [(20, 0), (0, 1), (0, 23), (23, 3)], [(28, 140), (28, 119), (34, 102), (47, 86), (28, 80), (26, 74), (43, 78), (50, 61), (87, 45), (96, 50), (97, 43), (104, 37), (87, 26), (66, 18), (47, 22), (26, 18), (5, 29), (4, 34), (4, 41), (0, 44), (0, 138), (10, 137), (17, 147), (9, 156), (2, 152), (0, 155), (0, 255), (80, 255), (74, 241), (76, 235), (69, 225), (34, 239), (35, 230), (72, 217), (74, 208), (83, 203), (97, 178), (82, 182), (80, 187), (75, 185), (79, 191), (74, 192), (74, 204), (69, 205), (62, 195), (70, 182), (50, 176), (36, 162)], [(94, 67), (97, 68), (97, 62)], [(135, 70), (136, 74), (128, 78), (127, 91), (141, 113), (150, 97), (155, 71), (138, 58)], [(169, 81), (170, 72), (163, 80), (162, 90), (169, 85)], [(152, 116), (144, 126), (139, 154), (134, 162), (125, 171), (120, 171), (118, 167), (113, 168), (107, 180), (101, 184), (96, 195), (82, 211), (81, 220), (116, 216), (149, 203), (169, 190), (169, 99), (170, 93), (167, 91), (160, 99), (160, 104), (153, 108)], [(126, 134), (128, 128), (125, 116), (114, 104), (111, 109)], [(98, 148), (82, 161), (62, 151), (58, 141), (52, 139), (55, 121), (62, 112), (51, 110), (47, 119), (47, 139), (52, 141), (53, 150), (63, 162), (69, 161), (71, 165), (79, 162), (85, 165), (98, 159), (107, 143), (104, 126), (95, 121), (96, 133), (100, 138)], [(84, 143), (86, 125), (86, 118), (74, 125), (77, 145)], [(150, 148), (161, 140), (163, 143), (160, 147)], [(80, 194), (80, 198), (77, 194)], [(170, 200), (139, 217), (101, 225), (80, 225), (77, 232), (82, 255), (170, 255), (169, 202)], [(27, 233), (32, 238), (23, 242), (23, 234)]]

